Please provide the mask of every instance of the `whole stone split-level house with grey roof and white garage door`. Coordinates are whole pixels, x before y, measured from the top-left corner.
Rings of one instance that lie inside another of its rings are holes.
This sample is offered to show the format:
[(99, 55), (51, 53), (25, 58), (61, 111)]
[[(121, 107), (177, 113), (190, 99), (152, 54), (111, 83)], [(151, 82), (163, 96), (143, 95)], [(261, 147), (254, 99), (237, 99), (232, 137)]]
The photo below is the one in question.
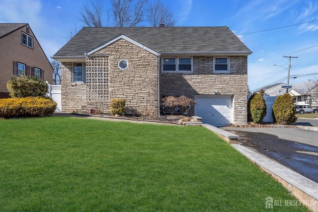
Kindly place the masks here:
[(247, 123), (249, 54), (228, 27), (84, 27), (52, 58), (62, 111), (109, 112), (123, 98), (128, 113), (159, 116), (162, 97), (185, 95), (189, 115), (225, 126)]

